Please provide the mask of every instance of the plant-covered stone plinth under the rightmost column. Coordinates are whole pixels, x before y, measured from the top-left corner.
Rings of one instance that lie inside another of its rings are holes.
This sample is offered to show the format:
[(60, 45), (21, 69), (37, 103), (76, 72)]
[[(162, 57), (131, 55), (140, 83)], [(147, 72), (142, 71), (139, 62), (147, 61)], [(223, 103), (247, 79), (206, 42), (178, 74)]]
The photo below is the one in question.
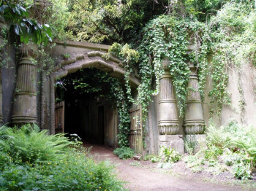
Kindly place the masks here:
[[(201, 147), (207, 147), (206, 146), (206, 134), (194, 134), (194, 135), (186, 135), (186, 141), (188, 143), (184, 143), (184, 144), (188, 144), (190, 147), (190, 149), (192, 149), (193, 153), (197, 153)], [(187, 148), (185, 147), (186, 152)]]

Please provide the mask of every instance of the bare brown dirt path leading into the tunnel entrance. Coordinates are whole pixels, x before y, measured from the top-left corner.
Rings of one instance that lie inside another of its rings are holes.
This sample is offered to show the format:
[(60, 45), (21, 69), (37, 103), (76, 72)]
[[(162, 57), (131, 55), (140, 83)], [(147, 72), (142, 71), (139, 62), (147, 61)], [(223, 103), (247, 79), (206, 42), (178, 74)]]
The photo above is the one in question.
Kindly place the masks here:
[[(89, 144), (85, 145), (89, 147)], [(113, 149), (94, 145), (91, 154), (95, 160), (109, 160), (116, 165), (118, 178), (124, 182), (129, 190), (243, 190), (238, 186), (219, 184), (219, 182), (204, 182), (193, 176), (181, 174), (168, 174), (166, 171), (158, 171), (155, 164), (149, 161), (120, 160), (113, 155)], [(171, 170), (169, 170), (171, 171)]]

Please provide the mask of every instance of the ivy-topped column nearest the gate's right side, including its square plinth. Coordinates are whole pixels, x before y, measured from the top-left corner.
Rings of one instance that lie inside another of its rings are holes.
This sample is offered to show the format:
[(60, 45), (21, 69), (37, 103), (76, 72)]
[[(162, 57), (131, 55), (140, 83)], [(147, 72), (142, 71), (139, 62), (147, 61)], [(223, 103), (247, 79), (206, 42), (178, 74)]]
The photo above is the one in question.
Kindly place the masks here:
[(165, 73), (160, 79), (159, 92), (159, 147), (171, 147), (181, 154), (184, 153), (184, 142), (179, 130), (178, 109), (173, 80), (170, 75), (169, 60), (165, 59), (162, 65)]

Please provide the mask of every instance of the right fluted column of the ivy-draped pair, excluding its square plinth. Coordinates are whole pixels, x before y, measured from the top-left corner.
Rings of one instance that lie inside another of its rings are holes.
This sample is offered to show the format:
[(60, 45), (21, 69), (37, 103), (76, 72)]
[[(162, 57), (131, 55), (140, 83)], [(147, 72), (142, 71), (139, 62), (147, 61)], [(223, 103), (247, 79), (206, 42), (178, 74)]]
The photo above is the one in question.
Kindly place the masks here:
[(187, 134), (202, 134), (204, 133), (205, 122), (203, 120), (202, 101), (198, 91), (197, 71), (193, 64), (189, 65), (189, 69), (189, 90), (184, 117), (184, 128)]

